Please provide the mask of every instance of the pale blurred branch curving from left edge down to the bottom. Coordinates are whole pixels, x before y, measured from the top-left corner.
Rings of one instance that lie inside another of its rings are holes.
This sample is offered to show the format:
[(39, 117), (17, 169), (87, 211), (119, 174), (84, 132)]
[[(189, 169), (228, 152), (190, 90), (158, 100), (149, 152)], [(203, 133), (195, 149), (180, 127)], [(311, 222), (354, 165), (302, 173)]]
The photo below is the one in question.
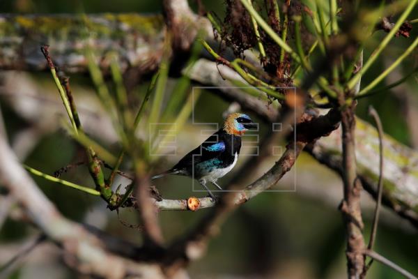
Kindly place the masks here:
[(10, 195), (49, 239), (77, 259), (75, 267), (80, 272), (106, 278), (123, 278), (127, 274), (163, 277), (158, 266), (134, 263), (107, 252), (100, 239), (63, 218), (22, 168), (3, 134), (0, 137), (0, 183), (8, 188)]

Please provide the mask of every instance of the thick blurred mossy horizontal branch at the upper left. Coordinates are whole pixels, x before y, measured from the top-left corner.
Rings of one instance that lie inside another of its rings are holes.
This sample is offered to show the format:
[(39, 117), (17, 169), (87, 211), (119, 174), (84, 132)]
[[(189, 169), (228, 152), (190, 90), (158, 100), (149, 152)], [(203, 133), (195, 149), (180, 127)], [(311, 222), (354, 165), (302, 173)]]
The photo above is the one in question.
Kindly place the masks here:
[(102, 68), (109, 66), (105, 54), (115, 51), (121, 68), (146, 73), (160, 61), (164, 32), (160, 15), (0, 15), (0, 68), (45, 70), (39, 47), (47, 43), (66, 72), (86, 71), (89, 44)]

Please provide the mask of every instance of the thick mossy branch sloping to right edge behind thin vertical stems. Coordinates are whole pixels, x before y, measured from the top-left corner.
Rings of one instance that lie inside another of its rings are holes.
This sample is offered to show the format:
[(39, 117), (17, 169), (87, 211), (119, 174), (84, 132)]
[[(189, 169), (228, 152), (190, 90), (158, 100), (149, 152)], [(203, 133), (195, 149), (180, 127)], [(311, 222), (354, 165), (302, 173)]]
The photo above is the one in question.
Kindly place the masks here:
[[(376, 128), (356, 119), (355, 139), (357, 142), (357, 174), (365, 190), (377, 197), (379, 177), (379, 139)], [(316, 160), (341, 174), (341, 128), (329, 137), (309, 146)], [(389, 135), (383, 137), (383, 204), (392, 208), (403, 218), (418, 227), (418, 152), (396, 142)]]

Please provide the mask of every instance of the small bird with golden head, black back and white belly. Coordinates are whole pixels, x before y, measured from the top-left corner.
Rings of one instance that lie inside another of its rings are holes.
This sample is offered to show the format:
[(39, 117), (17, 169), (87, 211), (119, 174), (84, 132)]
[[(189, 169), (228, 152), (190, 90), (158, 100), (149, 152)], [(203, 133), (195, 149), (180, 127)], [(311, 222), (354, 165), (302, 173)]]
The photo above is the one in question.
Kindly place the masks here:
[(159, 179), (168, 174), (189, 176), (199, 181), (210, 197), (215, 200), (215, 196), (206, 183), (210, 182), (222, 190), (217, 184), (217, 179), (233, 169), (240, 154), (241, 136), (251, 128), (256, 128), (256, 123), (253, 123), (247, 114), (229, 114), (223, 128), (208, 137), (208, 140), (196, 149), (187, 153), (167, 172), (157, 174), (151, 179)]

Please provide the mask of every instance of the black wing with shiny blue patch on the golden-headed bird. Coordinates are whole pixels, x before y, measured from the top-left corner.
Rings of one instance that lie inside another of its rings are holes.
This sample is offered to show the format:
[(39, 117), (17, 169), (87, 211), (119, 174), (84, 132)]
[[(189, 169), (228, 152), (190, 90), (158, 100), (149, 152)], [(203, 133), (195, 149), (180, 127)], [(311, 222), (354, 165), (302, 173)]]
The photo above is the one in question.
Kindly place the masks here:
[(187, 153), (171, 170), (187, 169), (197, 163), (217, 158), (225, 149), (225, 142), (222, 140), (222, 130), (218, 130), (200, 146), (197, 146), (196, 149)]

